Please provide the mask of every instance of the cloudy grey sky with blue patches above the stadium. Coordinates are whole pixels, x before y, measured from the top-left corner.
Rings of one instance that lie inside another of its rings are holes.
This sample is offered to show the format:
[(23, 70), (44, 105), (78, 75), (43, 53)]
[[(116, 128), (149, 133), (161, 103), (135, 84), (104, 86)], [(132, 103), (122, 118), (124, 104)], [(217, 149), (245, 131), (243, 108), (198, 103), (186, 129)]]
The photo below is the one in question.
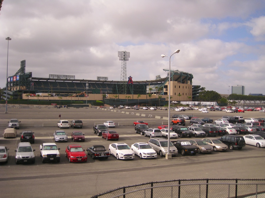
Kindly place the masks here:
[[(264, 0), (4, 0), (0, 11), (0, 87), (26, 60), (33, 77), (153, 80), (171, 69), (220, 94), (244, 85), (265, 94)], [(230, 90), (228, 91), (230, 86)]]

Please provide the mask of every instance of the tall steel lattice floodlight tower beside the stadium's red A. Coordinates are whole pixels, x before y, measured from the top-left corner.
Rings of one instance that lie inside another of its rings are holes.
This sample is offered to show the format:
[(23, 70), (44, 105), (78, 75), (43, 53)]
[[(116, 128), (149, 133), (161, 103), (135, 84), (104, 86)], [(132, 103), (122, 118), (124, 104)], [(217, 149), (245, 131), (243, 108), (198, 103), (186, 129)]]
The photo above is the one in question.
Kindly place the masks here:
[(126, 94), (126, 81), (127, 81), (126, 61), (128, 61), (130, 58), (130, 52), (118, 51), (118, 57), (119, 57), (119, 60), (122, 61), (120, 81), (123, 82), (120, 84), (119, 94)]

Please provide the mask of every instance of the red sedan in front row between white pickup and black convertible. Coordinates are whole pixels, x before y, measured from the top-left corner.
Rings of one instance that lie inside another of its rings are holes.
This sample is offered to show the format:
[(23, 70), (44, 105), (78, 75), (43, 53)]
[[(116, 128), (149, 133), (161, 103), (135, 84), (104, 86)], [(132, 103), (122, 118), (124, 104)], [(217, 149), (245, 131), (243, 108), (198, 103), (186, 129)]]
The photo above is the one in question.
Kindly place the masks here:
[(80, 145), (69, 145), (65, 149), (65, 157), (69, 162), (86, 162), (87, 155)]

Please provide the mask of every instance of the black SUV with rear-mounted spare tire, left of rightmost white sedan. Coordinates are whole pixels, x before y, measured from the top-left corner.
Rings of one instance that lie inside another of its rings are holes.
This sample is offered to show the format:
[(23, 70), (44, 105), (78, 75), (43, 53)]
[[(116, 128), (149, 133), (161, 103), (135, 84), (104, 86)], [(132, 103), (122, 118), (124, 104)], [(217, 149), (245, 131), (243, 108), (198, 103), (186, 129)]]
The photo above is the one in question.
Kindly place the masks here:
[(238, 148), (240, 150), (246, 145), (244, 138), (236, 135), (224, 135), (220, 138), (220, 141), (228, 145), (230, 150), (233, 150), (234, 148)]

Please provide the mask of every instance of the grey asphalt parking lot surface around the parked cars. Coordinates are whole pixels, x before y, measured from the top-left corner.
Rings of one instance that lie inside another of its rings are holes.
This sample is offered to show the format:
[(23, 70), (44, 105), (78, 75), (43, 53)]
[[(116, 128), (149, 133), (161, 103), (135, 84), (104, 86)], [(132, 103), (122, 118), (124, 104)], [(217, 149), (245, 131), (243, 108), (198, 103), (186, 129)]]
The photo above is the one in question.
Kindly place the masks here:
[[(155, 116), (168, 117), (168, 111), (141, 109), (110, 111), (95, 108), (10, 108), (8, 114), (4, 114), (4, 111), (4, 106), (1, 106), (0, 123), (7, 123), (14, 118), (19, 119), (21, 124), (34, 123), (34, 127), (20, 127), (14, 139), (4, 139), (3, 133), (6, 127), (0, 127), (0, 145), (7, 146), (10, 151), (8, 163), (0, 164), (0, 190), (5, 197), (90, 197), (122, 186), (176, 179), (264, 179), (264, 148), (251, 145), (246, 145), (242, 150), (235, 149), (195, 156), (182, 156), (179, 153), (171, 160), (166, 160), (159, 155), (156, 159), (140, 159), (135, 156), (133, 160), (117, 160), (111, 155), (106, 160), (92, 160), (91, 156), (88, 156), (86, 163), (69, 163), (64, 157), (65, 148), (70, 144), (80, 144), (84, 149), (92, 145), (104, 145), (108, 149), (109, 144), (117, 142), (107, 141), (93, 133), (95, 123), (103, 123), (107, 120), (116, 123), (113, 130), (120, 136), (118, 142), (127, 143), (129, 146), (136, 142), (148, 142), (148, 137), (135, 133), (133, 122), (144, 120), (150, 123), (148, 124), (150, 128), (156, 128), (167, 124), (168, 121), (157, 119)], [(60, 163), (42, 163), (39, 145), (54, 142), (53, 133), (58, 130), (56, 126), (43, 127), (43, 123), (56, 124), (59, 114), (61, 119), (68, 121), (81, 119), (84, 127), (62, 129), (68, 134), (69, 140), (57, 143), (61, 154)], [(171, 111), (171, 117), (173, 114), (193, 115), (199, 118), (210, 117), (213, 120), (225, 115), (242, 115), (244, 118), (265, 117), (264, 113), (258, 111), (245, 113), (210, 111), (207, 114), (198, 110)], [(190, 126), (187, 120), (186, 126)], [(31, 130), (35, 134), (35, 143), (32, 147), (36, 150), (34, 152), (36, 162), (16, 165), (14, 150), (20, 142), (19, 133), (24, 130)], [(85, 142), (73, 142), (70, 137), (72, 131), (85, 133)]]

